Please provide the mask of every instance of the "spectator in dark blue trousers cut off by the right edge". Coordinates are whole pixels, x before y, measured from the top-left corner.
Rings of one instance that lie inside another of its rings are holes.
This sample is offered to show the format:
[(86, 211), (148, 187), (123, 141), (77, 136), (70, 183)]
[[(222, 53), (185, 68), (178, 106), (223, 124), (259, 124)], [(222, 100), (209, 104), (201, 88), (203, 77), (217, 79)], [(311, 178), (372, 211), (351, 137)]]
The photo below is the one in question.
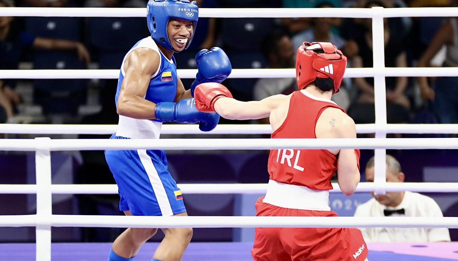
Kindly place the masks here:
[[(452, 2), (457, 6), (457, 0)], [(458, 67), (458, 17), (450, 18), (431, 41), (425, 53), (418, 61), (418, 67), (430, 66), (431, 59), (447, 46), (443, 67)], [(458, 77), (438, 77), (435, 88), (431, 88), (426, 77), (418, 78), (421, 97), (433, 101), (433, 109), (440, 123), (458, 123)]]

